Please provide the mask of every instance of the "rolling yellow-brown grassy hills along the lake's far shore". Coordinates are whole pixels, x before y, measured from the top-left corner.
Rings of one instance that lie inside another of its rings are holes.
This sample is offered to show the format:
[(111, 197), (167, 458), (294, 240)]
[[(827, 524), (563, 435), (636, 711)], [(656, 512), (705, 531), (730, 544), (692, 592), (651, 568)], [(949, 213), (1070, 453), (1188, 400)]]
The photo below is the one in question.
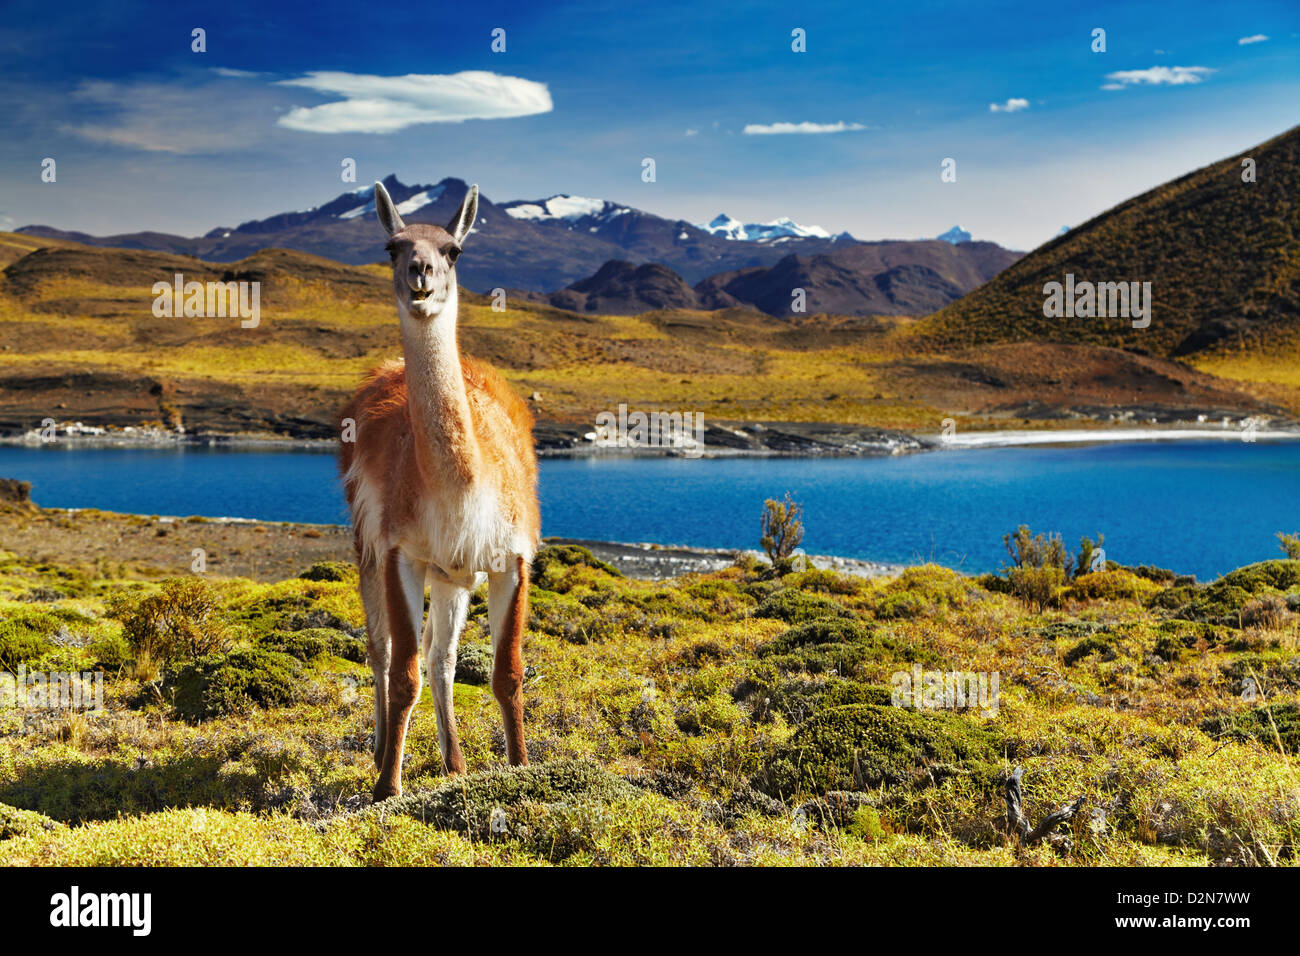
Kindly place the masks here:
[[(382, 265), (285, 250), (221, 265), (22, 234), (0, 234), (0, 429), (8, 432), (52, 416), (332, 437), (348, 392), (400, 354)], [(260, 325), (155, 317), (153, 282), (178, 272), (260, 281)], [(694, 410), (710, 421), (915, 431), (937, 431), (944, 418), (1000, 428), (1104, 423), (1117, 408), (1141, 420), (1240, 415), (1261, 402), (1300, 410), (1286, 386), (1256, 398), (1179, 363), (1092, 346), (940, 350), (910, 334), (911, 323), (775, 320), (746, 310), (580, 315), (521, 300), (498, 312), (463, 293), (460, 338), (520, 394), (540, 395), (532, 406), (541, 420), (560, 423), (590, 423), (620, 402)]]

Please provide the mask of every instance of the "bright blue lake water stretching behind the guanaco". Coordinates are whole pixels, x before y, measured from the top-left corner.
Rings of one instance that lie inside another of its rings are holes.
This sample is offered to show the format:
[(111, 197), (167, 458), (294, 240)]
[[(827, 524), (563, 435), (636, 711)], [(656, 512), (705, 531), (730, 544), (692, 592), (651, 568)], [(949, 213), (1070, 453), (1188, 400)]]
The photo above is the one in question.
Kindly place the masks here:
[[(343, 523), (333, 454), (0, 446), (51, 507)], [(1205, 580), (1300, 531), (1300, 442), (1164, 441), (853, 459), (545, 459), (542, 533), (755, 548), (764, 498), (803, 505), (810, 554), (996, 570), (1017, 524)], [(0, 541), (0, 546), (4, 542)]]

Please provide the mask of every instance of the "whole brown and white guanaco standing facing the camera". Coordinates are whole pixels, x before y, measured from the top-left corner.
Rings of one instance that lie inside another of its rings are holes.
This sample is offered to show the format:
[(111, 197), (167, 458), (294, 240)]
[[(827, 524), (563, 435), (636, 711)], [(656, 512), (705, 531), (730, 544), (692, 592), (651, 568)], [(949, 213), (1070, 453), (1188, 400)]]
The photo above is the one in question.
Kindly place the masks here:
[[(441, 593), (429, 610), (425, 648), (442, 760), (448, 773), (465, 769), (450, 696), (456, 632), (468, 588), (491, 570), (488, 566), (495, 567), (497, 549), (506, 546), (515, 574), (497, 568), (488, 578), (490, 614), (500, 618), (493, 628), (493, 692), (510, 762), (528, 762), (521, 697), (525, 555), (537, 546), (541, 515), (533, 415), (495, 369), (462, 358), (456, 341), (455, 260), (474, 221), (478, 187), (471, 187), (447, 229), (407, 226), (381, 183), (374, 198), (391, 237), (406, 359), (376, 368), (339, 412), (339, 425), (355, 423), (355, 441), (341, 441), (341, 459), (376, 682), (374, 797), (384, 800), (402, 792), (407, 722), (420, 696), (425, 622), (415, 618), (422, 617), (429, 580)], [(377, 635), (382, 631), (386, 640)]]

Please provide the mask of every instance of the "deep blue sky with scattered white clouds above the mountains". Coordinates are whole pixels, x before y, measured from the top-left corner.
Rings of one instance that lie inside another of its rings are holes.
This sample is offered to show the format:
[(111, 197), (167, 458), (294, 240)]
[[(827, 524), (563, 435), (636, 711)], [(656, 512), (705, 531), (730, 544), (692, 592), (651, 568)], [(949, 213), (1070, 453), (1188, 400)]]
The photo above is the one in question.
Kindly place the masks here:
[(382, 7), (8, 0), (0, 228), (192, 235), (324, 203), (352, 157), (358, 185), (1032, 248), (1300, 112), (1295, 0)]

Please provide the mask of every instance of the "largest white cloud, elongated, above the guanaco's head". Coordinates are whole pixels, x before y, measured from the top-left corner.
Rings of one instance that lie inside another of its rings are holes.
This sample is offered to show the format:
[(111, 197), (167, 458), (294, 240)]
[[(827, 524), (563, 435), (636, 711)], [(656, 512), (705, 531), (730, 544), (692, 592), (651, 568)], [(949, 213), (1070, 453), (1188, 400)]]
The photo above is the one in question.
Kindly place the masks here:
[(277, 121), (306, 133), (396, 133), (425, 122), (504, 120), (552, 109), (545, 83), (485, 70), (402, 77), (317, 70), (278, 85), (343, 98), (295, 107)]

